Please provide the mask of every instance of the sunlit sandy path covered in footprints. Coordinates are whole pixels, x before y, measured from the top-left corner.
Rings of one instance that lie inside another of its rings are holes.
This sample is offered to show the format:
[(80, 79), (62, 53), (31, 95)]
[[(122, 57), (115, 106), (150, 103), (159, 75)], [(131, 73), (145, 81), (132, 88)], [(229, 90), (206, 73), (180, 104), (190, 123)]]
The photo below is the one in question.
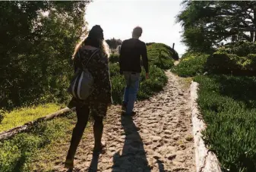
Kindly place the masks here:
[[(103, 133), (106, 152), (93, 157), (93, 133), (88, 134), (79, 145), (73, 171), (195, 171), (189, 89), (179, 77), (166, 75), (163, 92), (137, 102), (133, 119), (122, 116), (119, 106), (109, 109)], [(63, 164), (54, 168), (67, 171)]]

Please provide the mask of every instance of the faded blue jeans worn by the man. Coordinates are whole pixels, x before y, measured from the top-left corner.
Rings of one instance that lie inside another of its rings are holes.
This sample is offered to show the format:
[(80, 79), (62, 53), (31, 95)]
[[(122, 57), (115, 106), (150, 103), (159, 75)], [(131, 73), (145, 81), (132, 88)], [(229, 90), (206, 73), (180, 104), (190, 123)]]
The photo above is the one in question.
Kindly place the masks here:
[(124, 72), (125, 93), (123, 103), (126, 105), (125, 114), (131, 114), (134, 108), (134, 102), (137, 98), (137, 91), (140, 86), (140, 73)]

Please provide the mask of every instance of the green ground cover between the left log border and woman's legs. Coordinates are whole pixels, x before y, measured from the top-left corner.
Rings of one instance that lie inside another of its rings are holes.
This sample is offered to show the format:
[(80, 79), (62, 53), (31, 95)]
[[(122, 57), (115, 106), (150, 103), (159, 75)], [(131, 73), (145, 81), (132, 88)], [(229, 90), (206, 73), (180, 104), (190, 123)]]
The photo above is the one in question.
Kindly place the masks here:
[(12, 139), (1, 141), (0, 170), (6, 172), (38, 170), (32, 169), (33, 161), (40, 158), (41, 151), (47, 146), (51, 145), (51, 148), (57, 149), (56, 145), (59, 145), (59, 142), (69, 140), (67, 131), (71, 132), (74, 123), (75, 115), (68, 114), (66, 117), (42, 122), (28, 133), (19, 133)]

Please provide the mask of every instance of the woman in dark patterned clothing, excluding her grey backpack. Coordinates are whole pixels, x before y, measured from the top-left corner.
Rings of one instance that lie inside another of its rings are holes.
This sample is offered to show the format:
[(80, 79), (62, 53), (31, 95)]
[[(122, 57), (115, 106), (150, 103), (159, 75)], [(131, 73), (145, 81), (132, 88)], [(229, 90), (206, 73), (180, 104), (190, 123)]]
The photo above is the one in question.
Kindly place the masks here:
[[(93, 55), (92, 58), (90, 58), (91, 55)], [(105, 146), (101, 142), (103, 136), (103, 117), (106, 117), (107, 108), (112, 104), (108, 56), (108, 46), (104, 41), (103, 30), (99, 25), (96, 25), (90, 30), (88, 37), (77, 45), (74, 52), (74, 70), (77, 70), (77, 67), (82, 68), (81, 61), (86, 61), (87, 69), (93, 76), (94, 90), (87, 100), (81, 101), (73, 98), (68, 104), (68, 108), (76, 107), (77, 124), (72, 133), (65, 167), (74, 167), (74, 154), (87, 126), (89, 114), (93, 116), (94, 120), (93, 152), (99, 153)], [(89, 58), (90, 61), (88, 61)]]

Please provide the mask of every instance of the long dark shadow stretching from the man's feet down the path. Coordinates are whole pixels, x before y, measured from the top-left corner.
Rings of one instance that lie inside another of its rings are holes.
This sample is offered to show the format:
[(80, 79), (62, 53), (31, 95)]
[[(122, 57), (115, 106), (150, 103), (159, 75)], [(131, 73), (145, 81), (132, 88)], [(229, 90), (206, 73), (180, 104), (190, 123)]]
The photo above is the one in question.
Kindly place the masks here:
[(112, 171), (149, 172), (151, 171), (138, 128), (131, 117), (122, 115), (122, 127), (125, 130), (125, 144), (122, 154), (116, 152), (113, 158)]

